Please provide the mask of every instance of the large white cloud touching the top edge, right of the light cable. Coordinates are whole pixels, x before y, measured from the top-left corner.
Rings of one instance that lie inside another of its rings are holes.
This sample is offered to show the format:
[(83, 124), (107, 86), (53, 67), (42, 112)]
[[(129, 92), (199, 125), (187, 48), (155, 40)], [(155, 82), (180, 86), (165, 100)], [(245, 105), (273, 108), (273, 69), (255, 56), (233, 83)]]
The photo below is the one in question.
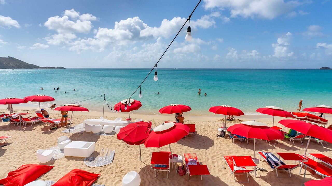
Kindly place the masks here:
[(228, 8), (231, 17), (261, 17), (273, 19), (290, 13), (300, 3), (284, 0), (204, 0), (206, 9)]

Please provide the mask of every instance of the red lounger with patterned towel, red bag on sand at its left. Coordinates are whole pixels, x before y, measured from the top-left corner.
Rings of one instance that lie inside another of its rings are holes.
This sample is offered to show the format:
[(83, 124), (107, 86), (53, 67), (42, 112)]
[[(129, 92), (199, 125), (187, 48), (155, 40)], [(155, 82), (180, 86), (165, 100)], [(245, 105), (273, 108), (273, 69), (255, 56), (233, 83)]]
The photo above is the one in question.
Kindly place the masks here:
[(202, 180), (202, 175), (210, 175), (207, 165), (201, 165), (195, 153), (183, 154), (183, 157), (185, 159), (189, 181), (190, 176), (201, 176)]

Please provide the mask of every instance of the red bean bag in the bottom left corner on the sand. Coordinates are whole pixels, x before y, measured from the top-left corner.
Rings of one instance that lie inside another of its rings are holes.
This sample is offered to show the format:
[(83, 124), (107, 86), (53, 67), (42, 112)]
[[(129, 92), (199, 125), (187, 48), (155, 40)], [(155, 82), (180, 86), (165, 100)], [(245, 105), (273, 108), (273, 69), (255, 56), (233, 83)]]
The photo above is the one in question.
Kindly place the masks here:
[(0, 183), (5, 186), (24, 186), (36, 180), (53, 167), (37, 164), (22, 165), (18, 169), (10, 171), (6, 178), (0, 179)]

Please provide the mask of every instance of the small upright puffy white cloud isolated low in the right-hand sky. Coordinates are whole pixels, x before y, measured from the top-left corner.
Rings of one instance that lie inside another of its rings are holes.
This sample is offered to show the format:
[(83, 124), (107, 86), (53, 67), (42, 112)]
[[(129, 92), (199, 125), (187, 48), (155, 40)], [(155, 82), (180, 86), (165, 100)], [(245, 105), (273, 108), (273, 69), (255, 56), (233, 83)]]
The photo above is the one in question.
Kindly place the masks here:
[(274, 57), (290, 57), (294, 53), (289, 51), (288, 45), (290, 45), (290, 40), (292, 39), (292, 34), (288, 32), (285, 35), (282, 35), (277, 39), (277, 43), (273, 43), (272, 47), (274, 47)]

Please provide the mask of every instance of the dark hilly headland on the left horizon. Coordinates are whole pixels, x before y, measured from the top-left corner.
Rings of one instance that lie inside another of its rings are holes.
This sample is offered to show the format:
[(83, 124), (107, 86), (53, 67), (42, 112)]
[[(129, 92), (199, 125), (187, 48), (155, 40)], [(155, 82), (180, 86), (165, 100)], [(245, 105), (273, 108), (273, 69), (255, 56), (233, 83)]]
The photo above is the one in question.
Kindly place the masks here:
[(64, 67), (39, 67), (8, 56), (0, 57), (0, 69), (65, 69)]

